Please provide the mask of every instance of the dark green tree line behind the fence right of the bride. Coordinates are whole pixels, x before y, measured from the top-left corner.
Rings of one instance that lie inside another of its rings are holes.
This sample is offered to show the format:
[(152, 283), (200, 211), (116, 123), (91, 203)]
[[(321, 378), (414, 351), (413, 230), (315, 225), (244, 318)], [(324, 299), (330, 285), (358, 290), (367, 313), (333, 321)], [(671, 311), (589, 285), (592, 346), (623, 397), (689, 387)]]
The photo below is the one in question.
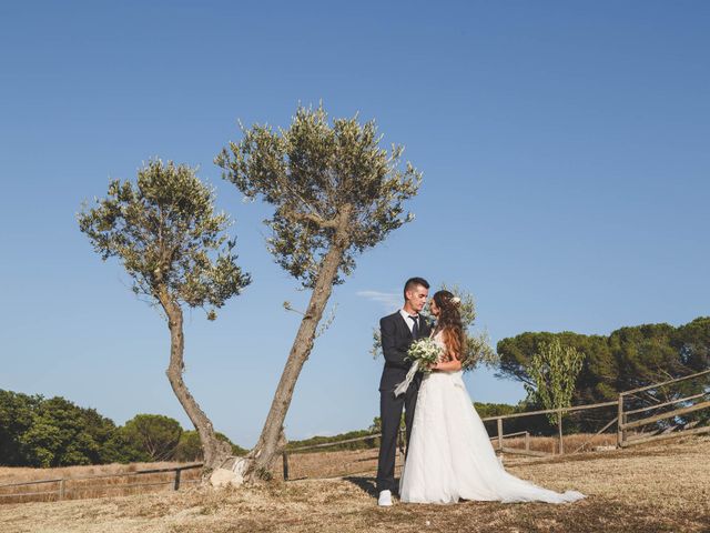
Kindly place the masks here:
[[(569, 331), (526, 332), (503, 339), (497, 346), (500, 356), (497, 375), (520, 381), (528, 391), (528, 398), (520, 402), (518, 410), (550, 409), (550, 402), (544, 400), (551, 390), (540, 390), (540, 372), (545, 374), (554, 369), (550, 361), (541, 361), (540, 358), (551, 346), (557, 346), (560, 354), (568, 355), (562, 359), (575, 355), (572, 359), (578, 364), (575, 372), (568, 372), (570, 378), (576, 378), (567, 385), (568, 394), (561, 406), (608, 402), (616, 400), (621, 391), (707, 370), (710, 364), (710, 318), (698, 318), (678, 328), (665, 323), (620, 328), (609, 335), (585, 335)], [(559, 366), (558, 373), (560, 369), (564, 368)], [(709, 390), (710, 379), (689, 380), (661, 390), (647, 391), (642, 398), (629, 398), (627, 408), (647, 406), (673, 398), (707, 393)], [(615, 410), (611, 406), (571, 413), (565, 420), (565, 431), (597, 431), (613, 416)], [(707, 418), (707, 412), (677, 418), (676, 422), (701, 422), (703, 418)], [(552, 416), (549, 424), (541, 416), (506, 421), (505, 432), (525, 429), (534, 434), (551, 434), (551, 419)], [(667, 424), (667, 421), (658, 423), (659, 428)]]

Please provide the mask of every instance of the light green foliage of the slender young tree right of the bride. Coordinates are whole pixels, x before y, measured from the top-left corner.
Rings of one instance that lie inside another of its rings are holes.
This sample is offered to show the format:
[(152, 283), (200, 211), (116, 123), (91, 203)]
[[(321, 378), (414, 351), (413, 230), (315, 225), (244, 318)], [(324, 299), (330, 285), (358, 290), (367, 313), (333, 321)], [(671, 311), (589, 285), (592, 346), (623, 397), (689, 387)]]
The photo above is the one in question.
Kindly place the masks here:
[[(545, 409), (570, 406), (584, 359), (584, 352), (562, 345), (559, 339), (541, 344), (526, 369), (535, 383), (535, 386), (525, 383), (528, 396), (539, 401)], [(549, 413), (547, 418), (550, 423), (557, 421), (556, 413)]]

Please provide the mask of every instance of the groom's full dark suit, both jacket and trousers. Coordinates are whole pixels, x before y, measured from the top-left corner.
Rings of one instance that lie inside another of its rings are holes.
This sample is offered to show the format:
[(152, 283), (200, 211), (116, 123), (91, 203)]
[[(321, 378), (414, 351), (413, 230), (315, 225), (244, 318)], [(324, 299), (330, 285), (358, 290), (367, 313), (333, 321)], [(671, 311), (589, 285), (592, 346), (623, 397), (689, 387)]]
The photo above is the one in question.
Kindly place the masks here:
[[(422, 383), (422, 373), (415, 374), (407, 392), (395, 398), (395, 386), (402, 383), (412, 363), (405, 360), (407, 350), (414, 341), (409, 325), (398, 311), (379, 321), (382, 351), (385, 355), (385, 368), (379, 380), (379, 419), (382, 422), (382, 439), (379, 444), (379, 460), (377, 463), (377, 491), (395, 491), (395, 455), (397, 452), (397, 433), (404, 406), (407, 444), (412, 435), (414, 410)], [(430, 326), (419, 315), (418, 339), (429, 336)], [(408, 446), (407, 446), (408, 449)]]

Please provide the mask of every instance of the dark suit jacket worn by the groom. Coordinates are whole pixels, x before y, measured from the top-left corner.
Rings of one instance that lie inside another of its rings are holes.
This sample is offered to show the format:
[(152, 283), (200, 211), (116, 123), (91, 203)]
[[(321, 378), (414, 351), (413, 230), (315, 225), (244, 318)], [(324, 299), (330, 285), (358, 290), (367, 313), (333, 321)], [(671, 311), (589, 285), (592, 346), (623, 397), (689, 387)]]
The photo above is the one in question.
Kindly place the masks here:
[[(419, 314), (419, 339), (429, 336), (430, 332), (432, 325)], [(379, 390), (394, 391), (395, 386), (404, 381), (412, 366), (412, 362), (405, 358), (414, 336), (399, 311), (379, 320), (379, 333), (382, 351), (385, 355), (385, 368), (379, 379)], [(422, 374), (417, 372), (417, 379), (413, 383), (418, 386)]]

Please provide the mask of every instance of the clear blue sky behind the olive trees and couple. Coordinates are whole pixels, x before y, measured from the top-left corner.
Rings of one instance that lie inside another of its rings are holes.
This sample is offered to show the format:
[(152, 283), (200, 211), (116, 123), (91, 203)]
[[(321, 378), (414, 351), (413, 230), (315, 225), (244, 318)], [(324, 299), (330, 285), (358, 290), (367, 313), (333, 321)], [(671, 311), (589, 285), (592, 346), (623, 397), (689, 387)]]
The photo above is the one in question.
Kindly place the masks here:
[[(237, 119), (287, 125), (320, 100), (376, 119), (425, 178), (415, 222), (335, 290), (288, 438), (371, 423), (372, 328), (410, 275), (471, 291), (494, 342), (708, 315), (708, 50), (703, 1), (3, 2), (0, 388), (187, 426), (164, 322), (75, 223), (110, 178), (172, 159), (216, 188), (254, 279), (185, 329), (189, 386), (252, 445), (297, 328), (282, 302), (307, 295), (265, 250), (268, 212), (212, 161)], [(485, 370), (466, 382), (524, 396)]]

